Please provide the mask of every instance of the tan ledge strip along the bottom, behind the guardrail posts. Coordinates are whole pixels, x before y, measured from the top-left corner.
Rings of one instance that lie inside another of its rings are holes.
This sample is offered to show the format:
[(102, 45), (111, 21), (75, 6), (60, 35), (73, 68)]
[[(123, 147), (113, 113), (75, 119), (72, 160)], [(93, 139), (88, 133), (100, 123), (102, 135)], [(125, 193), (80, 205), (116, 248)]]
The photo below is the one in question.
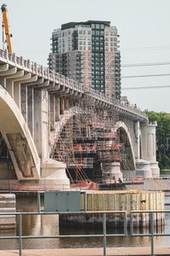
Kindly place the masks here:
[[(107, 256), (148, 256), (150, 247), (109, 247), (106, 250)], [(170, 255), (170, 247), (156, 247), (156, 255)], [(19, 251), (0, 251), (1, 256), (16, 256)], [(67, 248), (67, 249), (43, 249), (23, 250), (23, 256), (103, 256), (103, 248)]]

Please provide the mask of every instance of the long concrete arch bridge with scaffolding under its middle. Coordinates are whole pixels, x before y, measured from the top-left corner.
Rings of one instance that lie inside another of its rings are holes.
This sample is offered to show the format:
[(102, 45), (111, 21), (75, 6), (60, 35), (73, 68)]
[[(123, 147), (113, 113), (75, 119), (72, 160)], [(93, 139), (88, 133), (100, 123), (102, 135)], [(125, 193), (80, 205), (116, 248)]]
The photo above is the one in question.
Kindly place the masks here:
[(0, 49), (0, 181), (158, 177), (156, 123), (128, 102)]

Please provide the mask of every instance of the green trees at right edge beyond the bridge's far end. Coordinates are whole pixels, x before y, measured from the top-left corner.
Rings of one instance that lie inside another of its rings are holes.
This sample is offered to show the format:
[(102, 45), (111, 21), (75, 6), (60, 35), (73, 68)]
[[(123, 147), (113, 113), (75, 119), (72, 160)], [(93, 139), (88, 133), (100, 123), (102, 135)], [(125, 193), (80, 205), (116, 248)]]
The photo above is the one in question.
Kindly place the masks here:
[(146, 111), (149, 121), (156, 121), (156, 139), (157, 139), (157, 160), (160, 168), (170, 167), (170, 148), (166, 146), (166, 139), (170, 137), (170, 114), (156, 113), (154, 111)]

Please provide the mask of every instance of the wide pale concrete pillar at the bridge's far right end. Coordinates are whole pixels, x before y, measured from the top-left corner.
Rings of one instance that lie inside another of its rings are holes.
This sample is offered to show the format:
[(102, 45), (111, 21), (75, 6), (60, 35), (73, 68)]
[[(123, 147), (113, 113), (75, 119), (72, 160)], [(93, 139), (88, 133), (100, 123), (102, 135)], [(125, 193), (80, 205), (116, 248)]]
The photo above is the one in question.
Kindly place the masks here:
[(159, 177), (160, 169), (156, 161), (156, 122), (141, 126), (141, 156), (150, 161), (152, 177)]

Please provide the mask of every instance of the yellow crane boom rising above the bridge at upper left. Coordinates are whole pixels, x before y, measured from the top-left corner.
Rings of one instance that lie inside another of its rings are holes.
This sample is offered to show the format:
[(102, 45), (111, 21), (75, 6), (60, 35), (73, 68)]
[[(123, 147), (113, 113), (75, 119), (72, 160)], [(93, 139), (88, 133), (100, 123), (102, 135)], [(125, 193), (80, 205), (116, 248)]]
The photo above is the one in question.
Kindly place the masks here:
[[(3, 28), (5, 28), (5, 35), (6, 35), (6, 40), (5, 42), (7, 43), (7, 49), (9, 54), (13, 54), (13, 46), (12, 46), (12, 34), (10, 33), (10, 28), (9, 28), (9, 23), (8, 23), (8, 10), (7, 10), (7, 5), (3, 3), (1, 6), (1, 10), (3, 13)], [(3, 44), (4, 44), (4, 39), (3, 39)]]

